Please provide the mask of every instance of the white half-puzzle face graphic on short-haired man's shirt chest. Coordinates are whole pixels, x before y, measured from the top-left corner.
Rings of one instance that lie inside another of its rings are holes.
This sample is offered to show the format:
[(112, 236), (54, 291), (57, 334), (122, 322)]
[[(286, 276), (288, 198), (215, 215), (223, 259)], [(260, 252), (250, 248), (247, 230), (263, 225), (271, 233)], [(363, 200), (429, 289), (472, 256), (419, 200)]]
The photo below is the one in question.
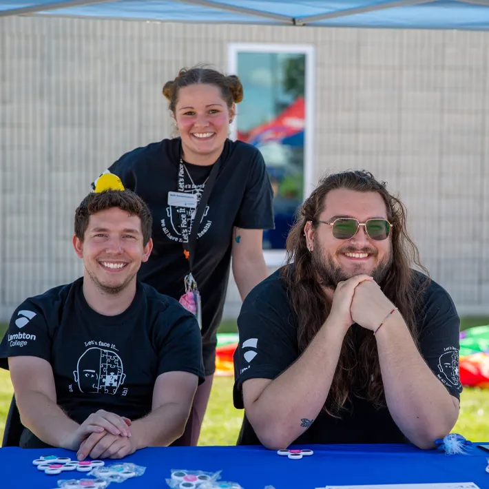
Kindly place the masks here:
[(78, 360), (74, 380), (80, 392), (112, 394), (124, 383), (121, 357), (110, 350), (88, 348)]

